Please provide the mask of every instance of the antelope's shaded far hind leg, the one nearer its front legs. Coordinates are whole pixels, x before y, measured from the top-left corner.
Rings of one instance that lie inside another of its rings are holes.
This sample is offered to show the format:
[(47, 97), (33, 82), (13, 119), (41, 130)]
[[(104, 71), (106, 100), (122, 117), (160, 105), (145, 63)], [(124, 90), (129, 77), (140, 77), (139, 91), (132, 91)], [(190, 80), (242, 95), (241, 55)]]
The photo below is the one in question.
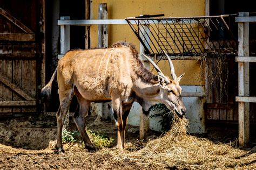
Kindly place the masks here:
[(77, 110), (73, 116), (73, 120), (77, 126), (78, 131), (80, 132), (82, 139), (84, 141), (85, 147), (89, 151), (95, 150), (95, 147), (91, 143), (91, 140), (86, 132), (86, 116), (88, 114), (88, 110), (90, 108), (90, 101), (85, 100), (79, 92), (75, 89), (75, 94), (78, 99)]

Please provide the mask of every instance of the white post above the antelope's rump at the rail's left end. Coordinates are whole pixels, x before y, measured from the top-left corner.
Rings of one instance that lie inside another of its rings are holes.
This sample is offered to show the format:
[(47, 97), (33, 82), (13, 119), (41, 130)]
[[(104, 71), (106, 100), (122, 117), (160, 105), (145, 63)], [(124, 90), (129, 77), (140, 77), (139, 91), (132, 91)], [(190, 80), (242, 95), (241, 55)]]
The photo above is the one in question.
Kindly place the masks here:
[[(60, 20), (69, 20), (70, 17), (60, 17)], [(63, 56), (70, 49), (70, 26), (60, 25), (60, 56)], [(59, 59), (59, 58), (58, 58)], [(63, 129), (69, 126), (69, 111), (66, 114)]]

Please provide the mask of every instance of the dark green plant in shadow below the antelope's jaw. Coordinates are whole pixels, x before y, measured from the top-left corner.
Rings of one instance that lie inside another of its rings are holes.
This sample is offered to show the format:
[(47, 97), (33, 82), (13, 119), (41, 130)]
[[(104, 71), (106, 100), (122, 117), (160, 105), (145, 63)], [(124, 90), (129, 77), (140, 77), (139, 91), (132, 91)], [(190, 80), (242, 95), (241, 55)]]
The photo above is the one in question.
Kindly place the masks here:
[(166, 106), (163, 103), (157, 103), (151, 108), (151, 111), (158, 111), (158, 114), (150, 116), (151, 118), (158, 116), (163, 118), (159, 121), (161, 125), (161, 130), (169, 131), (171, 129), (171, 122), (173, 117), (172, 111), (166, 108)]

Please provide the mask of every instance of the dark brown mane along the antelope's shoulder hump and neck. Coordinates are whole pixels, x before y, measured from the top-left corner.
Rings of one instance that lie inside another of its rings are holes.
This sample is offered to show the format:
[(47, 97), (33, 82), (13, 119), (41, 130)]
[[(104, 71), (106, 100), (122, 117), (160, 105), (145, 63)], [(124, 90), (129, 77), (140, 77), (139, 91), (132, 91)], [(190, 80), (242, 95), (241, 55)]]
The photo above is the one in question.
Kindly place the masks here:
[(131, 42), (118, 41), (114, 43), (111, 47), (118, 48), (126, 46), (129, 47), (133, 54), (133, 63), (132, 66), (137, 76), (139, 76), (142, 80), (150, 83), (157, 83), (158, 77), (151, 73), (143, 64), (142, 60), (139, 59), (138, 51), (136, 47)]

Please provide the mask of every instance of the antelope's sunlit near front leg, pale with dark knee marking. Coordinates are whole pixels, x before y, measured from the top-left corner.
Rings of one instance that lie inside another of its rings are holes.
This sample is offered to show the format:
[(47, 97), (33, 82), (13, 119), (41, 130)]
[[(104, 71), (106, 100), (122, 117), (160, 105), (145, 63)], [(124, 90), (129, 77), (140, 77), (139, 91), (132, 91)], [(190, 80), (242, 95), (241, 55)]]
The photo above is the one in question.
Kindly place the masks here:
[(122, 130), (123, 130), (123, 119), (122, 119), (122, 105), (120, 100), (112, 100), (113, 116), (116, 121), (117, 128), (117, 148), (123, 149), (122, 144)]

